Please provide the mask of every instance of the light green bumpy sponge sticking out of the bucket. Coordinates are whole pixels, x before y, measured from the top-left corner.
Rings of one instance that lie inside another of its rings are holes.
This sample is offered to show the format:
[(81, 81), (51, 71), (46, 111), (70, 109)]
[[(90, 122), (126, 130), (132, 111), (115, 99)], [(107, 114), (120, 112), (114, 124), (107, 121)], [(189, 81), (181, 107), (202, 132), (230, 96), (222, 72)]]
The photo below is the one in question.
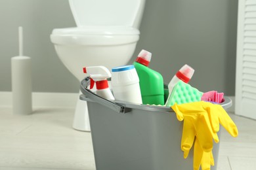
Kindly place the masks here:
[(171, 107), (175, 103), (179, 105), (182, 103), (201, 101), (202, 95), (203, 92), (200, 92), (196, 88), (190, 86), (190, 84), (187, 84), (182, 80), (179, 80), (179, 82), (177, 82), (177, 84), (174, 86), (166, 106)]

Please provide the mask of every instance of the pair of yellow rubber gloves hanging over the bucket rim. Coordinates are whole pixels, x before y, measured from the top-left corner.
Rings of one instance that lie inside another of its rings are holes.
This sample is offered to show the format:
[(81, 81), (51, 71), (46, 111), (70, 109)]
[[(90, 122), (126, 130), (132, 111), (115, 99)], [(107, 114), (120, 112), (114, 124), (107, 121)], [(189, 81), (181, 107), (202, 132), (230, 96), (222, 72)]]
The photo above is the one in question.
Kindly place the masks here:
[(236, 137), (238, 129), (231, 118), (221, 105), (199, 101), (194, 103), (185, 103), (173, 105), (171, 107), (177, 115), (179, 121), (184, 120), (181, 150), (184, 151), (184, 158), (188, 156), (190, 148), (194, 142), (194, 169), (198, 170), (200, 165), (202, 169), (210, 169), (214, 165), (212, 148), (213, 140), (219, 142), (217, 131), (219, 124)]

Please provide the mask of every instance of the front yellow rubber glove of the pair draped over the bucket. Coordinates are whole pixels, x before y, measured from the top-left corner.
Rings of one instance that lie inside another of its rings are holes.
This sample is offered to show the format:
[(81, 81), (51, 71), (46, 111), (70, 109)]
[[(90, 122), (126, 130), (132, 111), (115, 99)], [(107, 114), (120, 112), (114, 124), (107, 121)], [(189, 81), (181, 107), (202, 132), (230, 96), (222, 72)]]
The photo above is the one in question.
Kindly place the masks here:
[(188, 105), (173, 105), (172, 109), (177, 114), (177, 119), (182, 121), (184, 119), (181, 150), (184, 151), (184, 158), (188, 156), (188, 152), (194, 143), (194, 137), (198, 137), (205, 152), (210, 152), (213, 148), (213, 139), (219, 142), (217, 133), (214, 133), (209, 122), (208, 114), (198, 102)]

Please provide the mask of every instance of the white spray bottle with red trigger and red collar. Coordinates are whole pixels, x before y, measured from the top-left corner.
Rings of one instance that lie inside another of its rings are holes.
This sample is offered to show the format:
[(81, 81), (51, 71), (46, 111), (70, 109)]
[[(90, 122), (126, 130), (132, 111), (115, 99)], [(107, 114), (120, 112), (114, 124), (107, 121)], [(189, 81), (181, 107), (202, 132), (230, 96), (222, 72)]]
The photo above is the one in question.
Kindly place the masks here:
[(114, 96), (108, 88), (107, 78), (111, 77), (110, 71), (104, 66), (84, 67), (83, 73), (88, 73), (91, 78), (90, 89), (96, 82), (96, 94), (108, 100), (114, 100)]

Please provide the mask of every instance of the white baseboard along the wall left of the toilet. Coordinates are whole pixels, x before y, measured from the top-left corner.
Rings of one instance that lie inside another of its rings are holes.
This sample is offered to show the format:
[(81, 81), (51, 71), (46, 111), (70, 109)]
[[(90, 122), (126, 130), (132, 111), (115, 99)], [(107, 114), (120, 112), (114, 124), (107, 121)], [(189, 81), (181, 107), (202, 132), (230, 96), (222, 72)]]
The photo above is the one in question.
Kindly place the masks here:
[[(78, 93), (32, 93), (33, 107), (72, 107), (75, 108)], [(0, 92), (0, 106), (12, 107), (12, 92)]]

